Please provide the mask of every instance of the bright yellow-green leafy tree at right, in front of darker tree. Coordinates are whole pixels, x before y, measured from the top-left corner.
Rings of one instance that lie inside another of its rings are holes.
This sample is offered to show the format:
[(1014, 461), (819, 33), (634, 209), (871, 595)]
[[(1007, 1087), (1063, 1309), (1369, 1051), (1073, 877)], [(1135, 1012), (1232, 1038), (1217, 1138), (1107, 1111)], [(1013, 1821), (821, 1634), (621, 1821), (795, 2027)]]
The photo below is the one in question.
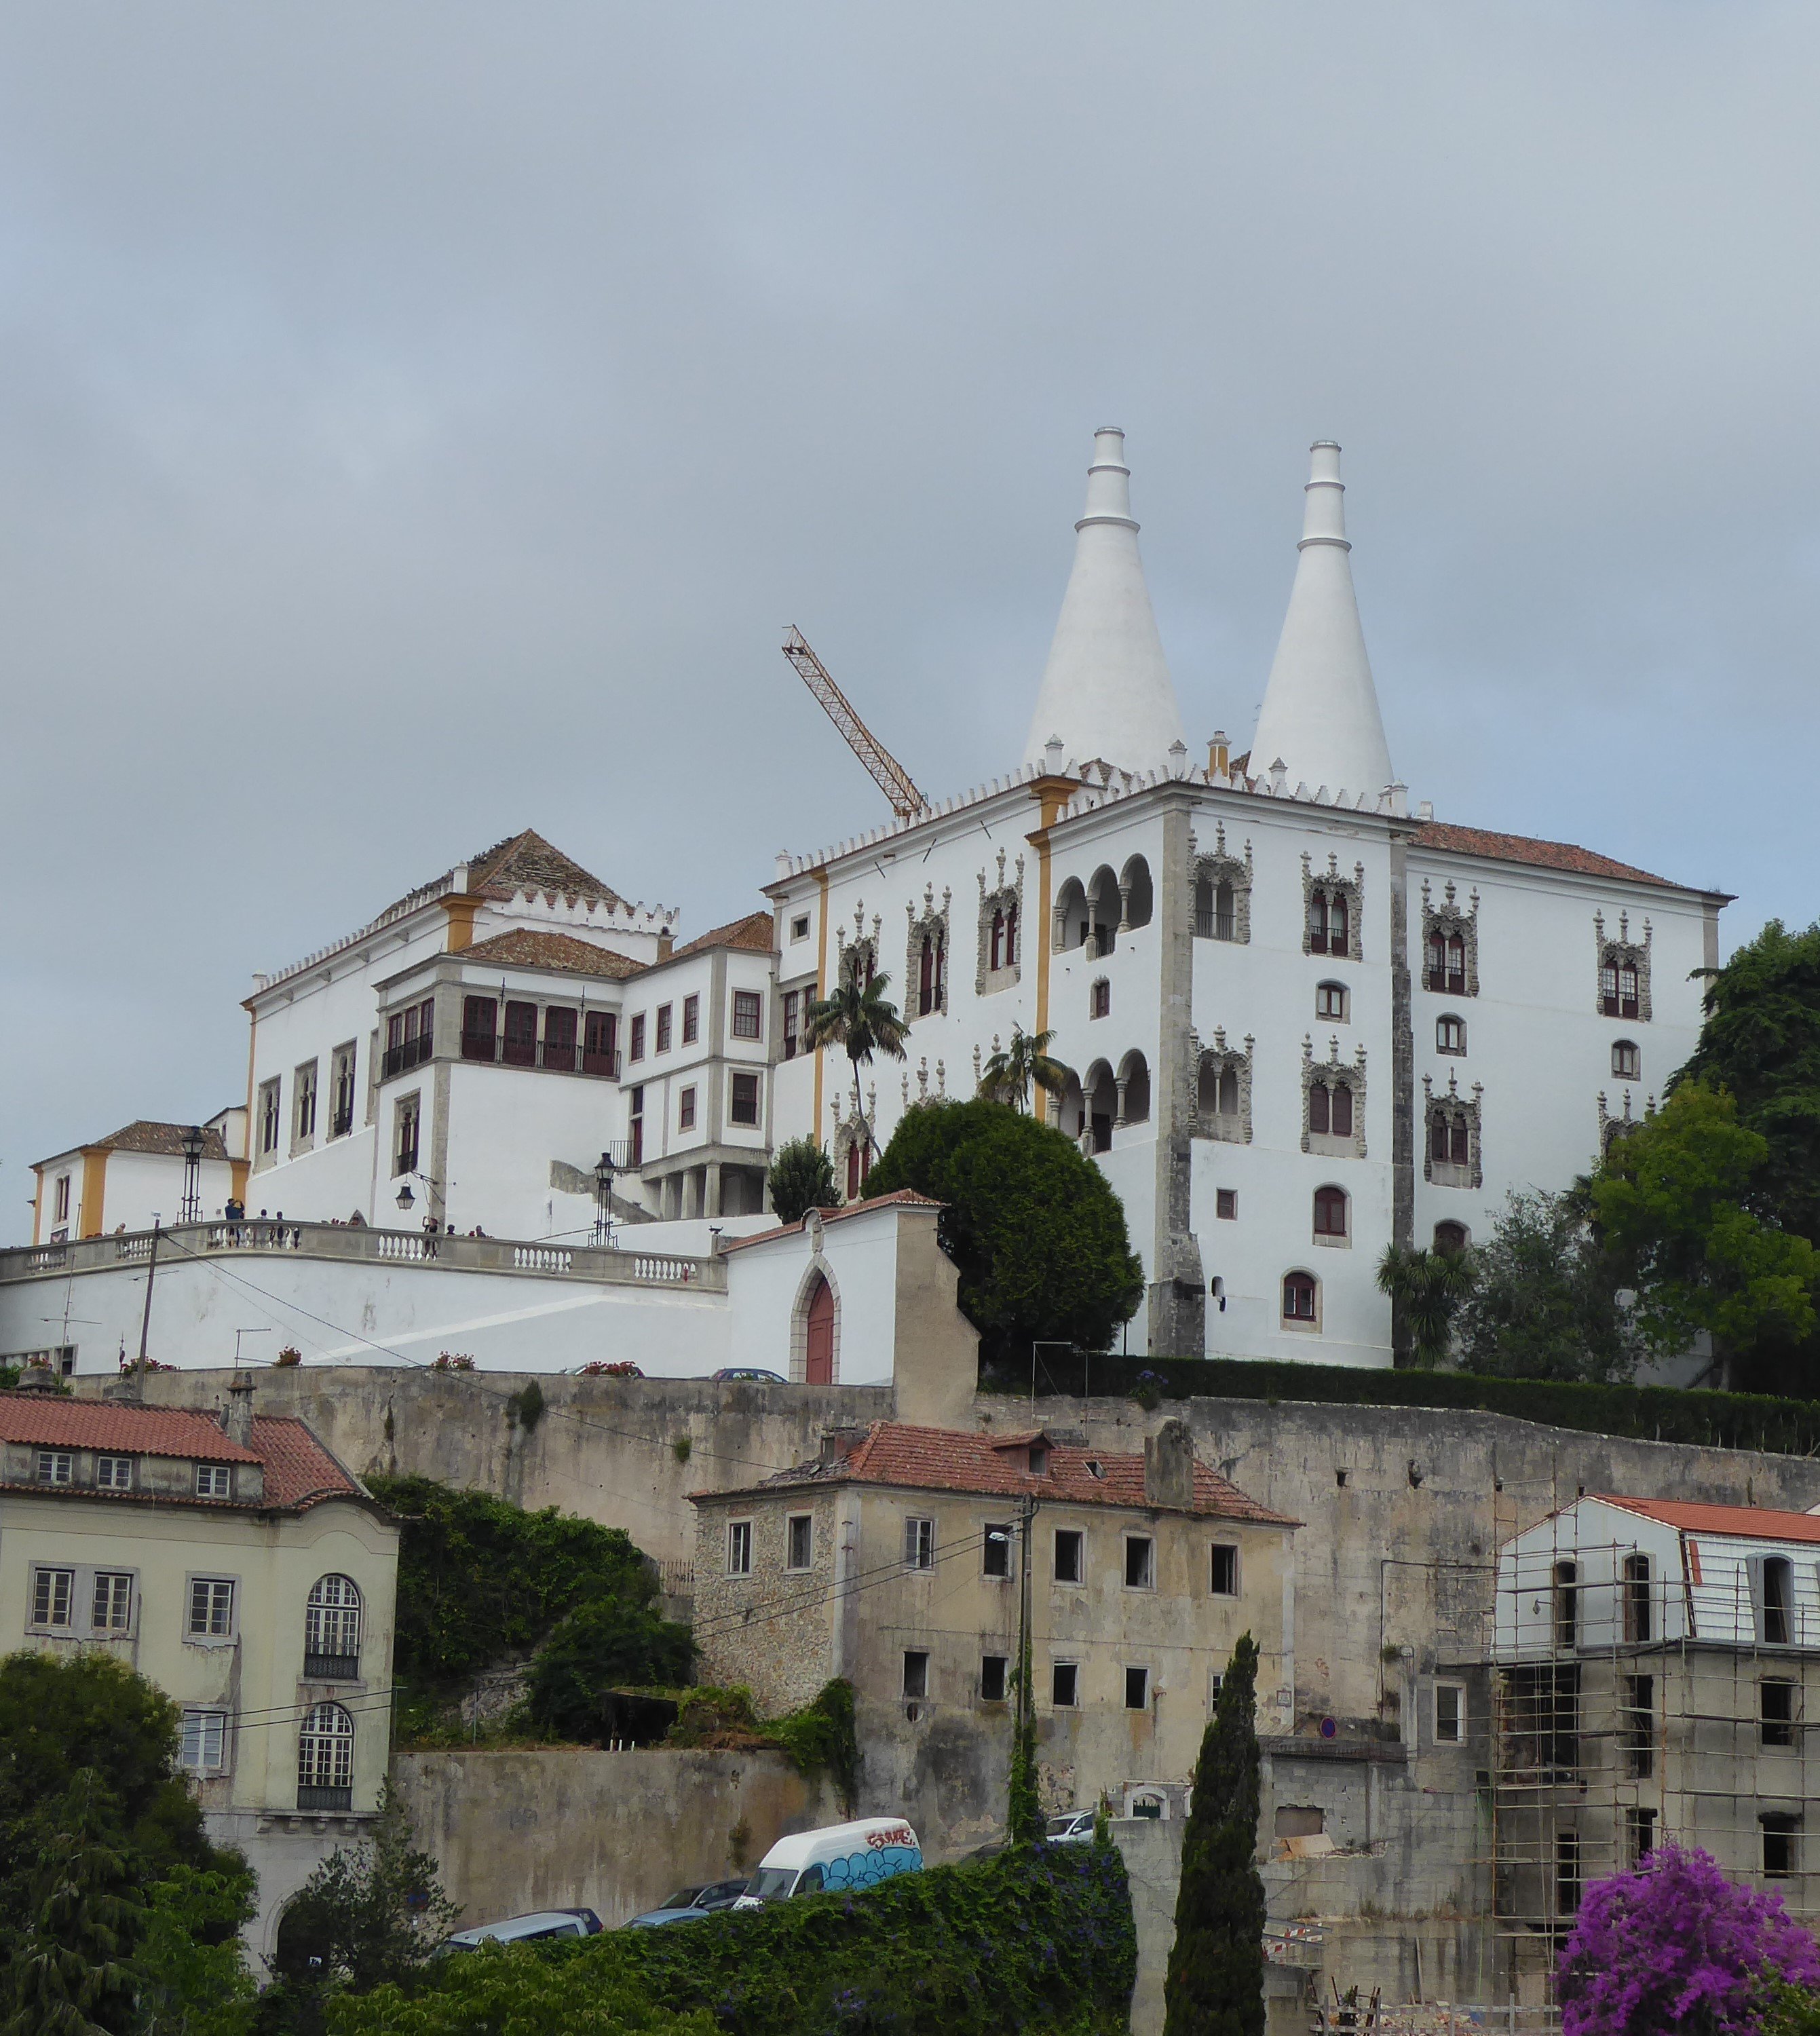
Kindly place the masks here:
[(1820, 1254), (1804, 1236), (1753, 1213), (1769, 1140), (1739, 1122), (1730, 1095), (1677, 1083), (1663, 1108), (1612, 1140), (1592, 1177), (1592, 1218), (1616, 1272), (1637, 1289), (1651, 1350), (1712, 1338), (1737, 1382), (1802, 1391), (1802, 1354), (1820, 1323)]

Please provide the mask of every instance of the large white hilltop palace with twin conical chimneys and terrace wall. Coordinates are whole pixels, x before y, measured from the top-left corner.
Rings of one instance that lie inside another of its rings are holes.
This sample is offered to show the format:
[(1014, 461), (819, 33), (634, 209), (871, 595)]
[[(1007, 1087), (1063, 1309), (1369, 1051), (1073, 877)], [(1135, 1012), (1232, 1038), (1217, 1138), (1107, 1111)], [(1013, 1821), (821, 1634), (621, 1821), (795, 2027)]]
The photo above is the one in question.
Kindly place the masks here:
[[(780, 855), (767, 910), (696, 941), (525, 833), (254, 977), (244, 1106), (210, 1120), (191, 1207), (181, 1126), (45, 1161), (33, 1244), (0, 1254), (0, 1356), (112, 1370), (157, 1213), (193, 1220), (179, 1260), (257, 1254), (275, 1338), (311, 1358), (676, 1374), (770, 1352), (802, 1376), (792, 1311), (827, 1307), (833, 1260), (792, 1244), (802, 1277), (763, 1287), (763, 1327), (727, 1279), (749, 1256), (727, 1246), (772, 1228), (770, 1152), (814, 1134), (857, 1203), (867, 1132), (884, 1146), (918, 1101), (971, 1095), (1022, 1028), (1075, 1071), (1050, 1110), (1144, 1258), (1132, 1350), (1388, 1364), (1384, 1246), (1482, 1236), (1511, 1189), (1563, 1187), (1643, 1116), (1694, 1047), (1690, 977), (1718, 961), (1726, 898), (1411, 808), (1342, 503), (1340, 448), (1317, 444), (1258, 727), (1201, 755), (1124, 436), (1097, 432), (1016, 770)], [(890, 973), (910, 1020), (861, 1116), (845, 1055), (802, 1047), (849, 967)], [(603, 1150), (613, 1248), (588, 1242)], [(843, 1311), (871, 1291), (853, 1277)], [(248, 1281), (214, 1307), (193, 1281), (157, 1356), (226, 1362)], [(845, 1378), (890, 1364), (861, 1356), (857, 1317), (837, 1342)]]

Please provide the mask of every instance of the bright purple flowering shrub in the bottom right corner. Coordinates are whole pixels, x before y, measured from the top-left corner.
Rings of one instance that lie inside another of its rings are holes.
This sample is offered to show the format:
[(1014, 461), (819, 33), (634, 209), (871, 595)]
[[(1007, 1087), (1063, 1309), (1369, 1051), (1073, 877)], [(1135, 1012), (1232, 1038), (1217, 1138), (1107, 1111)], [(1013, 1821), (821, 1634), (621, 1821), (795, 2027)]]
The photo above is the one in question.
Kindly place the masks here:
[(1814, 1938), (1779, 1893), (1663, 1845), (1586, 1889), (1561, 1953), (1561, 2036), (1757, 2036), (1777, 1981), (1820, 1985)]

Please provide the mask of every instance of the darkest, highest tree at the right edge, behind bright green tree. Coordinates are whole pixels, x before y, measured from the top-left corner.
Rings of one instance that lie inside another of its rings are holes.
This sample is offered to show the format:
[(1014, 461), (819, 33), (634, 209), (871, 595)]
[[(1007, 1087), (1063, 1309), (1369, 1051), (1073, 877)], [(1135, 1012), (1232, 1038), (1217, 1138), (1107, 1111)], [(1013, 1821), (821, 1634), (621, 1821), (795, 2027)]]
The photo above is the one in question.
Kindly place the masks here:
[(1706, 1024), (1682, 1077), (1734, 1097), (1765, 1142), (1747, 1207), (1820, 1244), (1820, 922), (1773, 918), (1706, 983)]

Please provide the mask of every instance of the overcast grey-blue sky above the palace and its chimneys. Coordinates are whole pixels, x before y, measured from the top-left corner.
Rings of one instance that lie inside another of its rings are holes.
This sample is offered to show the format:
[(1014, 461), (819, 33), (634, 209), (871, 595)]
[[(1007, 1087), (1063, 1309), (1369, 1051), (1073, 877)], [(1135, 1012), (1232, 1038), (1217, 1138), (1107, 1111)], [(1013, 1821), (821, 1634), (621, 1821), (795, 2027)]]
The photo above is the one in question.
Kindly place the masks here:
[(1311, 438), (1443, 818), (1816, 916), (1820, 10), (0, 4), (33, 1158), (535, 827), (684, 930), (1016, 766), (1097, 423), (1191, 741)]

